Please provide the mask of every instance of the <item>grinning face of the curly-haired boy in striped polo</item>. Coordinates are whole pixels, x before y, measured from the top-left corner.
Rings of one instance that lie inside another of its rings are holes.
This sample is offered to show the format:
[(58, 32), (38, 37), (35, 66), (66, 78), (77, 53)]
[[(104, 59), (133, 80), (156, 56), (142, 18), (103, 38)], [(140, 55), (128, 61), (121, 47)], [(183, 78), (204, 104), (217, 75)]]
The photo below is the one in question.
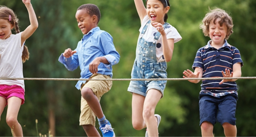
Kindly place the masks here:
[(220, 19), (215, 20), (215, 24), (213, 21), (209, 25), (209, 37), (211, 38), (211, 46), (213, 47), (221, 47), (224, 44), (225, 37), (227, 36), (227, 25), (225, 22), (220, 26), (218, 23)]

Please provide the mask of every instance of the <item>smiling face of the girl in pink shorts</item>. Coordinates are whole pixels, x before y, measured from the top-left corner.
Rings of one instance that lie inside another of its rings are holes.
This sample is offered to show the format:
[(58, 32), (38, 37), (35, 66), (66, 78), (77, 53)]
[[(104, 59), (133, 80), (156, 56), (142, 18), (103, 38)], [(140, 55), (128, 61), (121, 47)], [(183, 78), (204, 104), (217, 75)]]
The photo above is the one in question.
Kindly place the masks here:
[(0, 19), (0, 39), (7, 39), (12, 34), (11, 29), (13, 26), (10, 24), (9, 20)]

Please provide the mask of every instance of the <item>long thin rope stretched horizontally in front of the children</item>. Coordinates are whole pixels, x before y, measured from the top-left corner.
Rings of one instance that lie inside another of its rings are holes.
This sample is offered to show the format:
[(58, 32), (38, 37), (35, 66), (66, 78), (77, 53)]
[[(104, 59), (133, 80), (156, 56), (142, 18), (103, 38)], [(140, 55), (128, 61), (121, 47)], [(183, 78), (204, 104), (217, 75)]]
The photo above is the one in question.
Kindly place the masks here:
[(50, 80), (50, 81), (154, 81), (154, 80), (219, 80), (219, 79), (256, 79), (256, 77), (233, 77), (233, 78), (151, 78), (151, 79), (82, 79), (82, 78), (0, 78), (0, 80)]

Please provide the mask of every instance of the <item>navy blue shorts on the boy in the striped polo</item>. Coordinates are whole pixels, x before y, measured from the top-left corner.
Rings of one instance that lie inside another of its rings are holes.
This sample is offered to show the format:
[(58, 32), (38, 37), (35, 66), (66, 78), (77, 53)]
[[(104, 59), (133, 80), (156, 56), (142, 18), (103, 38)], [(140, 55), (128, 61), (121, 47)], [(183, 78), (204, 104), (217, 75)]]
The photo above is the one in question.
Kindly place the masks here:
[(208, 121), (213, 125), (216, 122), (219, 122), (221, 125), (225, 122), (235, 125), (237, 100), (238, 97), (235, 94), (216, 98), (206, 93), (200, 93), (200, 126), (204, 121)]

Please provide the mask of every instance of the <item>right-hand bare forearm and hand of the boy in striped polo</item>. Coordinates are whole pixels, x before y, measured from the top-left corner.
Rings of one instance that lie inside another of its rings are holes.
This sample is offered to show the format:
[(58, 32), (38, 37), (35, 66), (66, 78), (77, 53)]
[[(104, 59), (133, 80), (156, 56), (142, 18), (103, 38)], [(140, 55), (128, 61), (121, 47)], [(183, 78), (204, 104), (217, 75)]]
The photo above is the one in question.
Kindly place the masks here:
[[(229, 69), (225, 69), (225, 73), (224, 71), (221, 71), (222, 75), (224, 78), (231, 78), (231, 77), (240, 77), (242, 75), (242, 71), (241, 71), (241, 63), (235, 63), (233, 65), (233, 72), (230, 73)], [(236, 81), (237, 79), (223, 79), (222, 81), (220, 81), (219, 84), (222, 84), (224, 82), (227, 81)]]

